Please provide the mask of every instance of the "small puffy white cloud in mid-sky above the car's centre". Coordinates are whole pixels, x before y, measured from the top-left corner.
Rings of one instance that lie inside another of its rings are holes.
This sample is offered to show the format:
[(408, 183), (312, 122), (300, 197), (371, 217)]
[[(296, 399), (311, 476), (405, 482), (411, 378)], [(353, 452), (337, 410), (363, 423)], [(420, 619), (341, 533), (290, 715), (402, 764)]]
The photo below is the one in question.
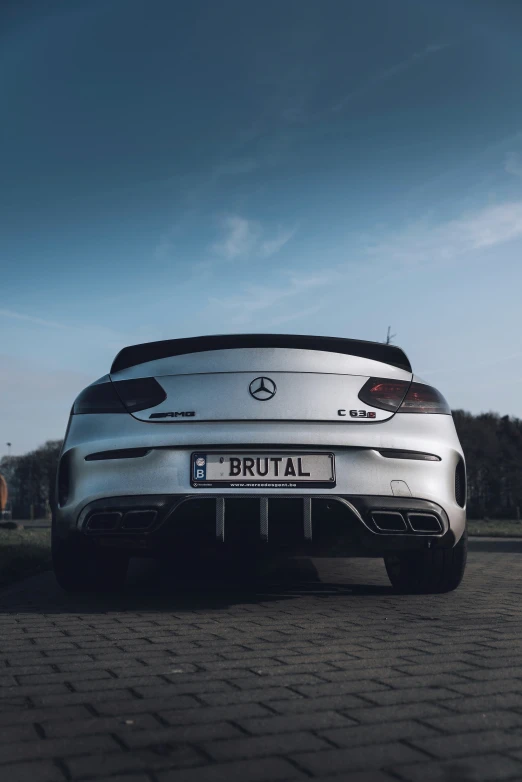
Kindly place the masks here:
[(211, 249), (228, 261), (250, 256), (269, 258), (280, 252), (297, 230), (279, 227), (272, 235), (259, 221), (240, 215), (227, 215), (222, 220), (221, 229), (223, 237)]

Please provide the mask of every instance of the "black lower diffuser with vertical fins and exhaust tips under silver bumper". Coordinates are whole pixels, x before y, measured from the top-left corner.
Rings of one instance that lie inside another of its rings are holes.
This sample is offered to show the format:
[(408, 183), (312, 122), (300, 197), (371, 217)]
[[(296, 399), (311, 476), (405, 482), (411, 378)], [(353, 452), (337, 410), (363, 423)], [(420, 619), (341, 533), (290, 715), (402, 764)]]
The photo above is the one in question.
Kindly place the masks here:
[[(465, 523), (465, 519), (462, 519)], [(133, 554), (380, 556), (451, 548), (460, 535), (439, 504), (368, 495), (148, 495), (94, 500), (55, 529)]]

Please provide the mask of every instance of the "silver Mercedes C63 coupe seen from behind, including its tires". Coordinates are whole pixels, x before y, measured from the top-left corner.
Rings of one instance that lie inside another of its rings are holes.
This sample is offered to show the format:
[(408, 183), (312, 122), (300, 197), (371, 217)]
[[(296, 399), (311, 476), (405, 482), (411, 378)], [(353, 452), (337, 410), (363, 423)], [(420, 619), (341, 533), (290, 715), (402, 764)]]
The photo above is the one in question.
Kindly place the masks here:
[(234, 334), (124, 348), (71, 410), (53, 561), (110, 589), (130, 556), (383, 557), (400, 591), (466, 564), (466, 470), (444, 397), (395, 346)]

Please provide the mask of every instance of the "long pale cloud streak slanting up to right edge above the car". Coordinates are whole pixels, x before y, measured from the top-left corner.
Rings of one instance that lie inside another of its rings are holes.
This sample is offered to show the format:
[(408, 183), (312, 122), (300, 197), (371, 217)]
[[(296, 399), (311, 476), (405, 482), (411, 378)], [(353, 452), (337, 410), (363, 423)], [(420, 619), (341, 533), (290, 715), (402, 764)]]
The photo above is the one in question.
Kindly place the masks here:
[[(486, 206), (445, 222), (418, 221), (399, 231), (382, 233), (378, 241), (366, 241), (350, 260), (321, 268), (320, 273), (302, 270), (281, 272), (269, 285), (245, 285), (240, 293), (210, 298), (209, 303), (226, 312), (236, 325), (255, 320), (263, 313), (268, 324), (296, 320), (318, 312), (339, 290), (364, 290), (365, 281), (389, 283), (403, 272), (420, 266), (455, 264), (477, 253), (522, 238), (522, 201)], [(348, 254), (346, 248), (343, 250)], [(318, 300), (317, 296), (323, 292)], [(305, 305), (305, 306), (303, 306)]]

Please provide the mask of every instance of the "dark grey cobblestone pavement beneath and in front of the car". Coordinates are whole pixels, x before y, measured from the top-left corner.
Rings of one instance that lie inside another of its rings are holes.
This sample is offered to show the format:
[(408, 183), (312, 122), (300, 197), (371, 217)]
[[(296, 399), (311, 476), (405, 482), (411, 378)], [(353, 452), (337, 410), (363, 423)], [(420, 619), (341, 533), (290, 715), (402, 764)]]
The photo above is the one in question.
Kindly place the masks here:
[(257, 582), (143, 567), (0, 593), (3, 782), (522, 780), (521, 554), (392, 593), (379, 560)]

